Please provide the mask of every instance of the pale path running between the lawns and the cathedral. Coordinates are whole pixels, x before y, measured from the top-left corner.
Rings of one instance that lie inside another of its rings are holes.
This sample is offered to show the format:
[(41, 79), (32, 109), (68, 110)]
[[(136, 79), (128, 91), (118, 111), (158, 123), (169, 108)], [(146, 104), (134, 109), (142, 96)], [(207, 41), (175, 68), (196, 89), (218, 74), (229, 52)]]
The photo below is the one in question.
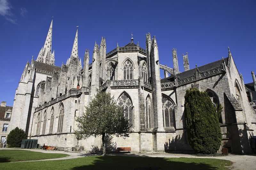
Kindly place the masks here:
[[(0, 148), (2, 149), (12, 149), (12, 148)], [(17, 148), (19, 149), (19, 148)], [(43, 153), (65, 153), (69, 156), (64, 158), (55, 158), (55, 159), (41, 159), (41, 160), (30, 160), (30, 161), (47, 161), (47, 160), (63, 160), (63, 159), (73, 159), (73, 158), (81, 158), (85, 156), (91, 156), (93, 154), (84, 153), (84, 152), (64, 152), (64, 151), (46, 151), (40, 149), (20, 149), (27, 151), (35, 151), (35, 152), (43, 152)], [(96, 154), (99, 155), (99, 154)], [(148, 156), (148, 157), (162, 157), (162, 158), (213, 158), (213, 159), (225, 159), (233, 162), (234, 170), (256, 170), (256, 155), (234, 155), (229, 154), (228, 156), (217, 156), (217, 157), (199, 157), (195, 155), (189, 154), (178, 154), (178, 153), (159, 153), (159, 152), (148, 152), (148, 153), (127, 153), (127, 154), (110, 154), (110, 155), (118, 155), (118, 156)], [(27, 161), (21, 161), (27, 162)]]

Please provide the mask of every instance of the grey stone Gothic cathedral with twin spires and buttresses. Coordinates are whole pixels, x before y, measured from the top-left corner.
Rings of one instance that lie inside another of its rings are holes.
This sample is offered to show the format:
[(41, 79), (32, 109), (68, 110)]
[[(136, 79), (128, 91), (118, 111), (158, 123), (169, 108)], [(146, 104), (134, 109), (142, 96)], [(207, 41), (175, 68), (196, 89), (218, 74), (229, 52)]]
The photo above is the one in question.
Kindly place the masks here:
[[(71, 49), (71, 47), (70, 47)], [(206, 91), (214, 106), (223, 106), (220, 127), (222, 147), (233, 153), (251, 152), (249, 137), (256, 130), (256, 114), (247, 100), (242, 75), (230, 50), (228, 57), (190, 69), (188, 53), (183, 55), (184, 72), (179, 71), (178, 53), (172, 49), (173, 68), (159, 62), (156, 37), (146, 34), (146, 49), (134, 44), (107, 53), (106, 40), (95, 43), (92, 63), (85, 50), (84, 63), (78, 56), (78, 31), (70, 58), (55, 66), (52, 52), (52, 22), (37, 59), (27, 63), (16, 89), (8, 130), (20, 127), (39, 144), (70, 149), (77, 144), (85, 151), (101, 146), (101, 137), (77, 141), (75, 118), (84, 112), (94, 94), (110, 92), (132, 124), (130, 137), (113, 137), (116, 147), (132, 152), (191, 150), (184, 119), (186, 90)], [(90, 64), (89, 64), (90, 63)], [(164, 79), (160, 78), (164, 70)]]

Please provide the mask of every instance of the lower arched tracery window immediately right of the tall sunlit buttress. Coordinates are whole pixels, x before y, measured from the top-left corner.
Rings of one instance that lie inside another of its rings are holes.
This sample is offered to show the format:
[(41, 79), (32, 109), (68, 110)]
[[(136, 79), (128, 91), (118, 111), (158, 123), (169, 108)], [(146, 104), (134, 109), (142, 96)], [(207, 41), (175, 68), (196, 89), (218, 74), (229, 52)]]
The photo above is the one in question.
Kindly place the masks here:
[(163, 111), (163, 123), (164, 127), (173, 127), (174, 120), (173, 120), (173, 104), (172, 101), (162, 95), (162, 111)]

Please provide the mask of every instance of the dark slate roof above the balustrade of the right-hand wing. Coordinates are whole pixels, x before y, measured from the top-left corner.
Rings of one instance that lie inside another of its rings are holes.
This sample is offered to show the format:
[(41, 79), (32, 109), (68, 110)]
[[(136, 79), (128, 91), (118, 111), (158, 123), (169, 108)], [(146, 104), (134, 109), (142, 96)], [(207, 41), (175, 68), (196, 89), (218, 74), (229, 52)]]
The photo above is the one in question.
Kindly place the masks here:
[[(228, 57), (224, 58), (224, 61), (227, 64), (228, 63)], [(215, 61), (215, 62), (212, 62), (212, 63), (209, 63), (209, 64), (205, 64), (205, 65), (200, 66), (200, 67), (197, 67), (197, 69), (200, 72), (210, 70), (210, 69), (213, 69), (215, 67), (220, 66), (221, 62), (222, 62), (222, 59), (218, 60), (218, 61)], [(176, 76), (177, 76), (178, 79), (183, 79), (183, 78), (187, 78), (189, 76), (195, 75), (195, 72), (196, 72), (196, 68), (190, 69), (188, 71), (181, 72), (179, 74), (176, 74)], [(174, 77), (175, 77), (174, 75), (171, 75), (170, 77), (163, 78), (163, 79), (161, 79), (161, 83), (172, 82), (172, 81), (174, 81)]]

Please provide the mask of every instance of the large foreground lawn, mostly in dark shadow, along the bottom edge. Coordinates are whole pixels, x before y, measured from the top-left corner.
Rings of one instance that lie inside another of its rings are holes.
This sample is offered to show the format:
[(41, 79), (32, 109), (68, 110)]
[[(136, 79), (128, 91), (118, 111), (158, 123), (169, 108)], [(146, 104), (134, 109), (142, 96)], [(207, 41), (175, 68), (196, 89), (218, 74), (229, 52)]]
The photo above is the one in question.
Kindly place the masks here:
[(152, 158), (128, 156), (87, 156), (76, 159), (0, 163), (2, 169), (105, 169), (105, 170), (224, 170), (231, 162), (207, 158)]

